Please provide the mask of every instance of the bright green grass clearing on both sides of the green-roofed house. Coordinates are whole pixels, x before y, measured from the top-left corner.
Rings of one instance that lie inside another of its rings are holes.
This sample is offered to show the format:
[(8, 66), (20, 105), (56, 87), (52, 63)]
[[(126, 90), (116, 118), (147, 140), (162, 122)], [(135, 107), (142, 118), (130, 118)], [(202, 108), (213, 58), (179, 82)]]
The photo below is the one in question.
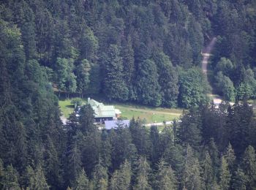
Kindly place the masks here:
[[(86, 102), (86, 101), (84, 101)], [(167, 109), (162, 107), (147, 107), (136, 104), (113, 104), (117, 109), (121, 110), (121, 116), (123, 118), (140, 118), (146, 120), (146, 123), (173, 121), (175, 118), (179, 118), (181, 109)], [(61, 113), (65, 118), (69, 117), (69, 114), (74, 110), (74, 105), (71, 104), (71, 99), (59, 100), (59, 106)]]

